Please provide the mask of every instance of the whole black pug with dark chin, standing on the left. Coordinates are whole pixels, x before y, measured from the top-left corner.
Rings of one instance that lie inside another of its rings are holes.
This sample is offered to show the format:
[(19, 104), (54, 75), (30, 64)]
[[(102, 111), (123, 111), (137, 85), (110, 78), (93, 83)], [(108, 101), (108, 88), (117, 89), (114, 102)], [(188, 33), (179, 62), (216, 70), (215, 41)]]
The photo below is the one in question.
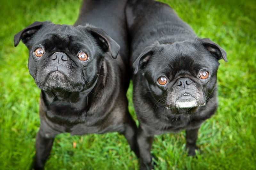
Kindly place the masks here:
[(28, 69), (41, 89), (34, 169), (43, 169), (54, 137), (63, 132), (118, 131), (138, 154), (137, 127), (126, 98), (125, 5), (119, 0), (84, 1), (75, 26), (34, 22), (14, 36), (14, 46), (22, 40), (28, 47)]

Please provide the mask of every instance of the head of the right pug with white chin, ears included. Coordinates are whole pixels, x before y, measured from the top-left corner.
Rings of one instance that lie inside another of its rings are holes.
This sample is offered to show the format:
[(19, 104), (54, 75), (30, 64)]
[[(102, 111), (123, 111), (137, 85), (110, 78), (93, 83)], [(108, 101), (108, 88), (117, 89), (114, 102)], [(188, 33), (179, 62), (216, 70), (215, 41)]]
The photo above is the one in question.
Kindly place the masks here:
[(134, 73), (144, 76), (147, 90), (165, 108), (205, 106), (212, 97), (220, 59), (226, 52), (209, 39), (172, 44), (155, 43), (133, 63)]

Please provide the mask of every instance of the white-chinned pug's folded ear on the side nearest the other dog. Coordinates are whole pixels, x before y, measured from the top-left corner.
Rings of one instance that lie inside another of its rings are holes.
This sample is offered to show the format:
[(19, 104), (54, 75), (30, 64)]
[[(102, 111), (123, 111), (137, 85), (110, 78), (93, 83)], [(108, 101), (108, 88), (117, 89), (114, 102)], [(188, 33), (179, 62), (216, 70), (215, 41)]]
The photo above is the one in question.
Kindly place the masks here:
[(148, 46), (144, 48), (144, 50), (140, 53), (140, 56), (133, 62), (132, 67), (134, 70), (134, 74), (137, 74), (139, 69), (143, 68), (150, 58), (150, 56), (154, 53), (154, 46)]

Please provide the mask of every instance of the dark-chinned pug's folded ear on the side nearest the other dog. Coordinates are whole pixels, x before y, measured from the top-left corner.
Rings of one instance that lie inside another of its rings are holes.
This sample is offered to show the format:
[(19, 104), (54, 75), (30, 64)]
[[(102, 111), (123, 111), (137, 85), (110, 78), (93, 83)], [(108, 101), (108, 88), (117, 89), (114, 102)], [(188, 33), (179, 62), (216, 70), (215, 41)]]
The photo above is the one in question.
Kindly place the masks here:
[(104, 52), (110, 52), (111, 56), (116, 59), (120, 46), (102, 29), (92, 26), (87, 26), (86, 29), (99, 42)]

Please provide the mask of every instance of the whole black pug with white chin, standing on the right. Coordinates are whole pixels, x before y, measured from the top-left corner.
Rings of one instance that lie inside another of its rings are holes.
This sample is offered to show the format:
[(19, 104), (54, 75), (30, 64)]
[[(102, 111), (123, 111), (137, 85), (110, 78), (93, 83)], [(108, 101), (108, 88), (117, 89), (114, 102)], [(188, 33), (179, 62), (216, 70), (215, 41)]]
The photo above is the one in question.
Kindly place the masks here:
[(195, 155), (198, 129), (217, 109), (218, 60), (227, 62), (226, 52), (197, 38), (167, 4), (129, 0), (126, 19), (140, 169), (153, 169), (154, 135), (185, 129), (188, 153)]

